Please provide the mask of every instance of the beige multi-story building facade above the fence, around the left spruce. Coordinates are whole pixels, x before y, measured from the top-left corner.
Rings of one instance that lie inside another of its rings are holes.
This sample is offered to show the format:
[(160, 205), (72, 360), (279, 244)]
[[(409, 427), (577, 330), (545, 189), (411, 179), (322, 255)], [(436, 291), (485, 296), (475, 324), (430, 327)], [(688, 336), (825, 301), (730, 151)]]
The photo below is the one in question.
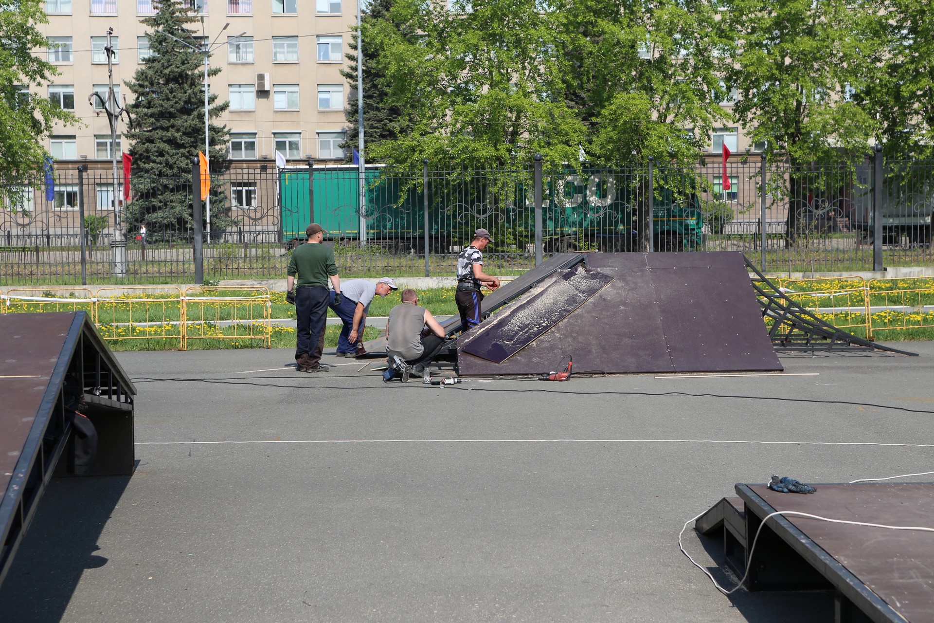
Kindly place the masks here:
[[(340, 161), (347, 120), (346, 62), (356, 0), (185, 0), (201, 23), (192, 23), (201, 41), (221, 44), (210, 58), (221, 72), (210, 90), (230, 108), (215, 120), (231, 132), (228, 157), (254, 166), (276, 160)], [(107, 29), (117, 50), (114, 84), (120, 102), (131, 101), (123, 85), (149, 54), (149, 27), (158, 0), (46, 0), (49, 23), (42, 26), (57, 47), (49, 61), (60, 75), (30, 89), (73, 110), (84, 126), (60, 126), (49, 142), (56, 166), (80, 163), (106, 169), (112, 150), (103, 106), (92, 92), (107, 92)], [(225, 25), (227, 27), (225, 28)], [(242, 35), (241, 35), (242, 34)], [(125, 129), (120, 122), (118, 132)]]

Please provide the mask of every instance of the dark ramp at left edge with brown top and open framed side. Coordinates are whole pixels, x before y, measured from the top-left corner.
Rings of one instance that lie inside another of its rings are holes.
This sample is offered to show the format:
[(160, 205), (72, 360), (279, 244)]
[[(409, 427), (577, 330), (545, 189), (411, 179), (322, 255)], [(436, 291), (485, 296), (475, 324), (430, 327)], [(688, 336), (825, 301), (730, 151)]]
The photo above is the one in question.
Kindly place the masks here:
[(98, 436), (84, 473), (130, 474), (134, 394), (84, 312), (0, 316), (0, 582), (51, 476), (74, 473), (66, 407), (80, 404)]

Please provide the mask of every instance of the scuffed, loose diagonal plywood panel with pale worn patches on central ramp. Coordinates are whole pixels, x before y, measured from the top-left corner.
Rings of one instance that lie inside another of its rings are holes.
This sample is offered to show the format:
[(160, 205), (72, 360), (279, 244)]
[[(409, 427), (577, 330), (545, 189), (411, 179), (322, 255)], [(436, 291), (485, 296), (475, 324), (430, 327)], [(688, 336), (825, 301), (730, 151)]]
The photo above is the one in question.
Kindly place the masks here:
[(502, 363), (612, 281), (613, 277), (583, 266), (569, 270), (508, 314), (497, 315), (464, 335), (460, 351)]

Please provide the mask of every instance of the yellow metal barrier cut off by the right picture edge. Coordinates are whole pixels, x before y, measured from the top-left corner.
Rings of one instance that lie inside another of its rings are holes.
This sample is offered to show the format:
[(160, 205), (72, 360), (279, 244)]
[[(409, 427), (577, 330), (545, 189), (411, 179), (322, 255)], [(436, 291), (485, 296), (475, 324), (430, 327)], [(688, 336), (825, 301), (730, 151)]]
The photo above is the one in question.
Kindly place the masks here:
[[(870, 334), (934, 327), (934, 289), (888, 290), (904, 279), (870, 279), (867, 296)], [(882, 307), (872, 312), (873, 308)]]

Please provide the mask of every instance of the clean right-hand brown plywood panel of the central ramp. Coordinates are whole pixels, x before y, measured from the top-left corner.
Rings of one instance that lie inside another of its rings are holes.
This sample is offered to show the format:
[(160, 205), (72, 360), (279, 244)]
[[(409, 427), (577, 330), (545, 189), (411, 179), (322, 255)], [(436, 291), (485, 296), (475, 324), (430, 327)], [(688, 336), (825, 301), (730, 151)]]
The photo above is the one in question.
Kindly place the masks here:
[(783, 369), (743, 265), (649, 272), (675, 371)]

